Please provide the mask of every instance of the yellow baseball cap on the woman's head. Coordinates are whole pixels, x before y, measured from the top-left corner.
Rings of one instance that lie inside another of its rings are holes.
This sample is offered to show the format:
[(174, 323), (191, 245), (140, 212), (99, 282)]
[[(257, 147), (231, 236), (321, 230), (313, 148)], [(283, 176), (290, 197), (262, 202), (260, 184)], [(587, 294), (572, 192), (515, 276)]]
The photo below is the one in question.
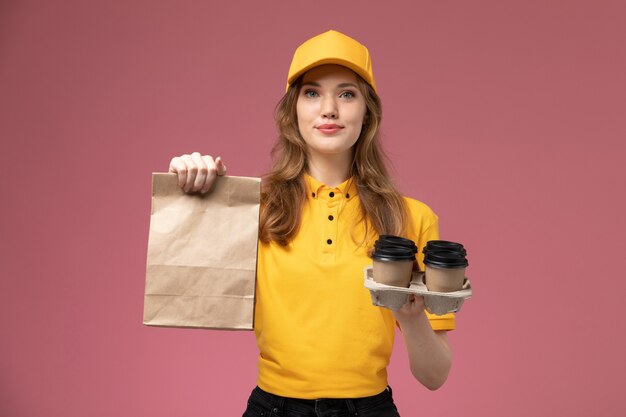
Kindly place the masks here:
[(376, 91), (372, 60), (367, 48), (335, 30), (317, 35), (296, 49), (289, 67), (287, 88), (300, 75), (324, 64), (337, 64), (351, 69)]

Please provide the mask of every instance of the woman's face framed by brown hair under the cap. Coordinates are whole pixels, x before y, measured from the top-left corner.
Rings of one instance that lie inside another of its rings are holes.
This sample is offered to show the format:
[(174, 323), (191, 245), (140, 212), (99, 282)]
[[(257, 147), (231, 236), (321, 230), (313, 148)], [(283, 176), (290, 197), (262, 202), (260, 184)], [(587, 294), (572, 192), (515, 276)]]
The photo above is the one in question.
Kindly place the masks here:
[(304, 74), (296, 105), (298, 129), (312, 157), (352, 157), (367, 111), (356, 77), (340, 65)]

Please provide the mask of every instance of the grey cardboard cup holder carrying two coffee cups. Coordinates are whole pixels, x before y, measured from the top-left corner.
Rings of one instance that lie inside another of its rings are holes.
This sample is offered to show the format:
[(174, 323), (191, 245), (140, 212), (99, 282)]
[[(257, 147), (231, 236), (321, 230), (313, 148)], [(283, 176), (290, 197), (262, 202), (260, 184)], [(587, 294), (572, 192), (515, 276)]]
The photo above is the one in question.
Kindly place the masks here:
[(372, 304), (392, 310), (397, 310), (402, 307), (410, 294), (418, 294), (424, 297), (426, 310), (428, 310), (429, 313), (437, 315), (455, 313), (461, 309), (465, 300), (472, 297), (472, 286), (467, 277), (465, 277), (465, 281), (463, 282), (463, 288), (459, 291), (433, 292), (426, 289), (426, 285), (424, 284), (424, 272), (413, 271), (409, 288), (379, 284), (374, 281), (371, 266), (364, 269), (364, 275), (365, 288), (370, 290)]

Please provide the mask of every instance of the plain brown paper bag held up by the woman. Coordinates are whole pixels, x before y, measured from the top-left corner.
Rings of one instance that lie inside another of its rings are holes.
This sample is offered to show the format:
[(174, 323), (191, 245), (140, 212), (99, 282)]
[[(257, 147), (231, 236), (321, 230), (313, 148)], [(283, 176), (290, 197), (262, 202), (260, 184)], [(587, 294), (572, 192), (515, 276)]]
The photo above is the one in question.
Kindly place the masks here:
[(219, 177), (206, 195), (177, 181), (152, 175), (143, 322), (251, 330), (261, 180)]

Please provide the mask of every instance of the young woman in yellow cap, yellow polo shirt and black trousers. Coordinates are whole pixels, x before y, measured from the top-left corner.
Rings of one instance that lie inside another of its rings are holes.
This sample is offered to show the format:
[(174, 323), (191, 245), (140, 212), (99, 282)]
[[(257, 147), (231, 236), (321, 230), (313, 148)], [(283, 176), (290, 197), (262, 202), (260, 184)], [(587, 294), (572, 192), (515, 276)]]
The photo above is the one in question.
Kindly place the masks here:
[[(420, 250), (438, 238), (437, 216), (391, 184), (380, 122), (365, 46), (329, 31), (296, 50), (262, 182), (259, 373), (246, 417), (398, 416), (386, 373), (396, 326), (415, 378), (429, 389), (447, 378), (454, 316), (428, 314), (422, 297), (396, 311), (375, 307), (363, 285), (378, 235)], [(192, 153), (173, 158), (170, 172), (185, 191), (207, 192), (226, 167)]]

